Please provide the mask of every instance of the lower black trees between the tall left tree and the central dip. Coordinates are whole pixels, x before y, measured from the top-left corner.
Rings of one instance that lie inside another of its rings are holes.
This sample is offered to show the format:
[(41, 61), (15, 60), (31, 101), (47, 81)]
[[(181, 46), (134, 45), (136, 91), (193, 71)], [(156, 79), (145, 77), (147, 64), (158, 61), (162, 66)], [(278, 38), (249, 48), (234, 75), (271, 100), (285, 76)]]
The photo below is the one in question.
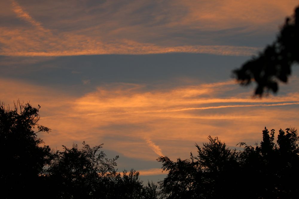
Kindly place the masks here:
[(121, 175), (115, 169), (118, 156), (106, 158), (102, 145), (91, 148), (83, 142), (82, 149), (74, 144), (57, 151), (45, 175), (49, 198), (143, 198), (148, 194), (139, 172), (124, 170)]

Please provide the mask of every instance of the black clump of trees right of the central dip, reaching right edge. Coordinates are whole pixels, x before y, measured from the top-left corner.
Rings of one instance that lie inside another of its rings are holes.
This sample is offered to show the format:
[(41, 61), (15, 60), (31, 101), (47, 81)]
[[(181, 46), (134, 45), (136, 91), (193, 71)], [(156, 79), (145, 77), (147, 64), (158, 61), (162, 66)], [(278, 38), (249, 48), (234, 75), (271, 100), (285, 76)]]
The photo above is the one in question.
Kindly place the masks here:
[[(160, 181), (163, 198), (298, 198), (299, 156), (297, 130), (279, 130), (277, 144), (274, 129), (263, 130), (260, 145), (237, 152), (217, 137), (208, 137), (198, 155), (190, 160), (160, 157), (162, 169), (169, 171)], [(278, 145), (278, 146), (277, 146)], [(256, 179), (255, 179), (256, 178)], [(242, 183), (240, 183), (240, 181)]]

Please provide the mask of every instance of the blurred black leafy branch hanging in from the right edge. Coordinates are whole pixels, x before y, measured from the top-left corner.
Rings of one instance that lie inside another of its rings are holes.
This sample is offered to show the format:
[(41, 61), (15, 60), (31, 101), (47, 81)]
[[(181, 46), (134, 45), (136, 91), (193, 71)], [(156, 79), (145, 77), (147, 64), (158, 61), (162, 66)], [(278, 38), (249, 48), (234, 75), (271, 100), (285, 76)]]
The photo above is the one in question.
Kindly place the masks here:
[(257, 82), (255, 95), (278, 90), (277, 81), (286, 83), (291, 74), (291, 66), (299, 63), (299, 7), (280, 30), (276, 41), (268, 45), (258, 57), (247, 61), (233, 73), (241, 85)]

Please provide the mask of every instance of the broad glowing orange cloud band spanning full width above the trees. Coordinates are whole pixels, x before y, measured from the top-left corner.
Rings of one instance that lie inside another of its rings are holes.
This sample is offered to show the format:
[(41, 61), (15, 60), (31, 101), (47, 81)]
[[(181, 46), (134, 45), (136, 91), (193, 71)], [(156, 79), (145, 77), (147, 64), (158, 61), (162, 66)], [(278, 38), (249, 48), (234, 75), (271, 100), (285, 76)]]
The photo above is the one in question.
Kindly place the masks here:
[(298, 126), (298, 93), (219, 98), (238, 87), (231, 81), (151, 91), (138, 84), (111, 84), (83, 96), (10, 79), (0, 84), (1, 101), (11, 104), (19, 98), (42, 106), (40, 122), (53, 131), (41, 136), (58, 149), (85, 140), (105, 143), (105, 149), (131, 158), (188, 158), (193, 144), (206, 142), (208, 135), (234, 147), (240, 141), (259, 141), (265, 126)]

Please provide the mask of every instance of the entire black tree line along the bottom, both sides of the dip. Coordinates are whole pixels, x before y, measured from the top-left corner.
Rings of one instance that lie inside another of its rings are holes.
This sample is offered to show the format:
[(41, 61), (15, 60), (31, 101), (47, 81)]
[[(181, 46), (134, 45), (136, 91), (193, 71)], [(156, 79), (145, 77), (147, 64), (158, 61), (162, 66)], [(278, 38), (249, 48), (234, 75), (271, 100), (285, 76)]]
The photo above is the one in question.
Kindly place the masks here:
[(229, 149), (208, 137), (190, 159), (159, 157), (167, 177), (143, 185), (139, 172), (118, 172), (102, 144), (51, 150), (38, 133), (39, 108), (0, 105), (1, 198), (298, 198), (299, 137), (294, 128), (263, 130), (256, 146)]

